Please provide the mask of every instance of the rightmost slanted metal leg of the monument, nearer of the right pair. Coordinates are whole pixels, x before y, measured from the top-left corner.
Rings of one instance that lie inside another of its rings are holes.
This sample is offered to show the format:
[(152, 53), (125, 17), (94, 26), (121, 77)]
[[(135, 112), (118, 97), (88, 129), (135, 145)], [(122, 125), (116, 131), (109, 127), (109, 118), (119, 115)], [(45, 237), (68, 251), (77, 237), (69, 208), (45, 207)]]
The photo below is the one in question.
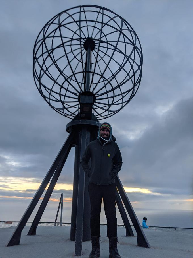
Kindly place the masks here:
[(141, 247), (150, 248), (150, 244), (148, 243), (148, 240), (141, 228), (139, 220), (137, 219), (137, 216), (133, 210), (133, 207), (131, 206), (129, 198), (127, 197), (127, 194), (125, 193), (123, 185), (118, 176), (115, 177), (115, 183), (116, 183), (117, 189), (119, 191), (119, 194), (121, 196), (121, 199), (123, 200), (125, 208), (129, 214), (129, 217), (131, 218), (131, 221), (133, 223), (135, 231), (137, 232), (137, 245), (139, 245)]

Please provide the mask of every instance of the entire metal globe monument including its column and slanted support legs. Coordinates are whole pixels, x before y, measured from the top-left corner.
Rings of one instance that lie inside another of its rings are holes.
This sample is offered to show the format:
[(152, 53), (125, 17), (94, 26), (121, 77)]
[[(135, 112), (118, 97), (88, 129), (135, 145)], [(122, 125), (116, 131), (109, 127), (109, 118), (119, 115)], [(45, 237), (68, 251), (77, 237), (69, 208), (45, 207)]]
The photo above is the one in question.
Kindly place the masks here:
[[(135, 96), (142, 76), (141, 45), (129, 23), (113, 11), (96, 5), (73, 7), (54, 16), (40, 31), (33, 50), (33, 76), (46, 102), (72, 120), (66, 126), (66, 141), (7, 246), (20, 243), (21, 232), (49, 184), (28, 232), (36, 234), (68, 154), (75, 147), (70, 240), (75, 241), (75, 255), (80, 256), (82, 241), (91, 238), (89, 182), (80, 159), (87, 144), (97, 137), (99, 120), (118, 113)], [(137, 232), (137, 244), (149, 248), (118, 176), (115, 182), (126, 236), (134, 234), (125, 209)]]

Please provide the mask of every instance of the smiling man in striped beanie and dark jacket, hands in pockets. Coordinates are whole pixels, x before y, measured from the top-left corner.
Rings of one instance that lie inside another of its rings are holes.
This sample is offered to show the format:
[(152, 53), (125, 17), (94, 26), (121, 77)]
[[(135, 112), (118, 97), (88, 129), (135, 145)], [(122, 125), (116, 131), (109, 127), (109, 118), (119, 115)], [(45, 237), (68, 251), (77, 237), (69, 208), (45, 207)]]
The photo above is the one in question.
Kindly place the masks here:
[[(91, 242), (89, 258), (100, 256), (100, 212), (103, 198), (109, 238), (109, 258), (121, 258), (117, 249), (117, 218), (115, 211), (115, 177), (121, 170), (122, 158), (116, 138), (109, 123), (103, 123), (98, 137), (90, 142), (81, 159), (81, 166), (89, 176), (89, 196), (91, 202)], [(91, 167), (88, 165), (91, 159)]]

